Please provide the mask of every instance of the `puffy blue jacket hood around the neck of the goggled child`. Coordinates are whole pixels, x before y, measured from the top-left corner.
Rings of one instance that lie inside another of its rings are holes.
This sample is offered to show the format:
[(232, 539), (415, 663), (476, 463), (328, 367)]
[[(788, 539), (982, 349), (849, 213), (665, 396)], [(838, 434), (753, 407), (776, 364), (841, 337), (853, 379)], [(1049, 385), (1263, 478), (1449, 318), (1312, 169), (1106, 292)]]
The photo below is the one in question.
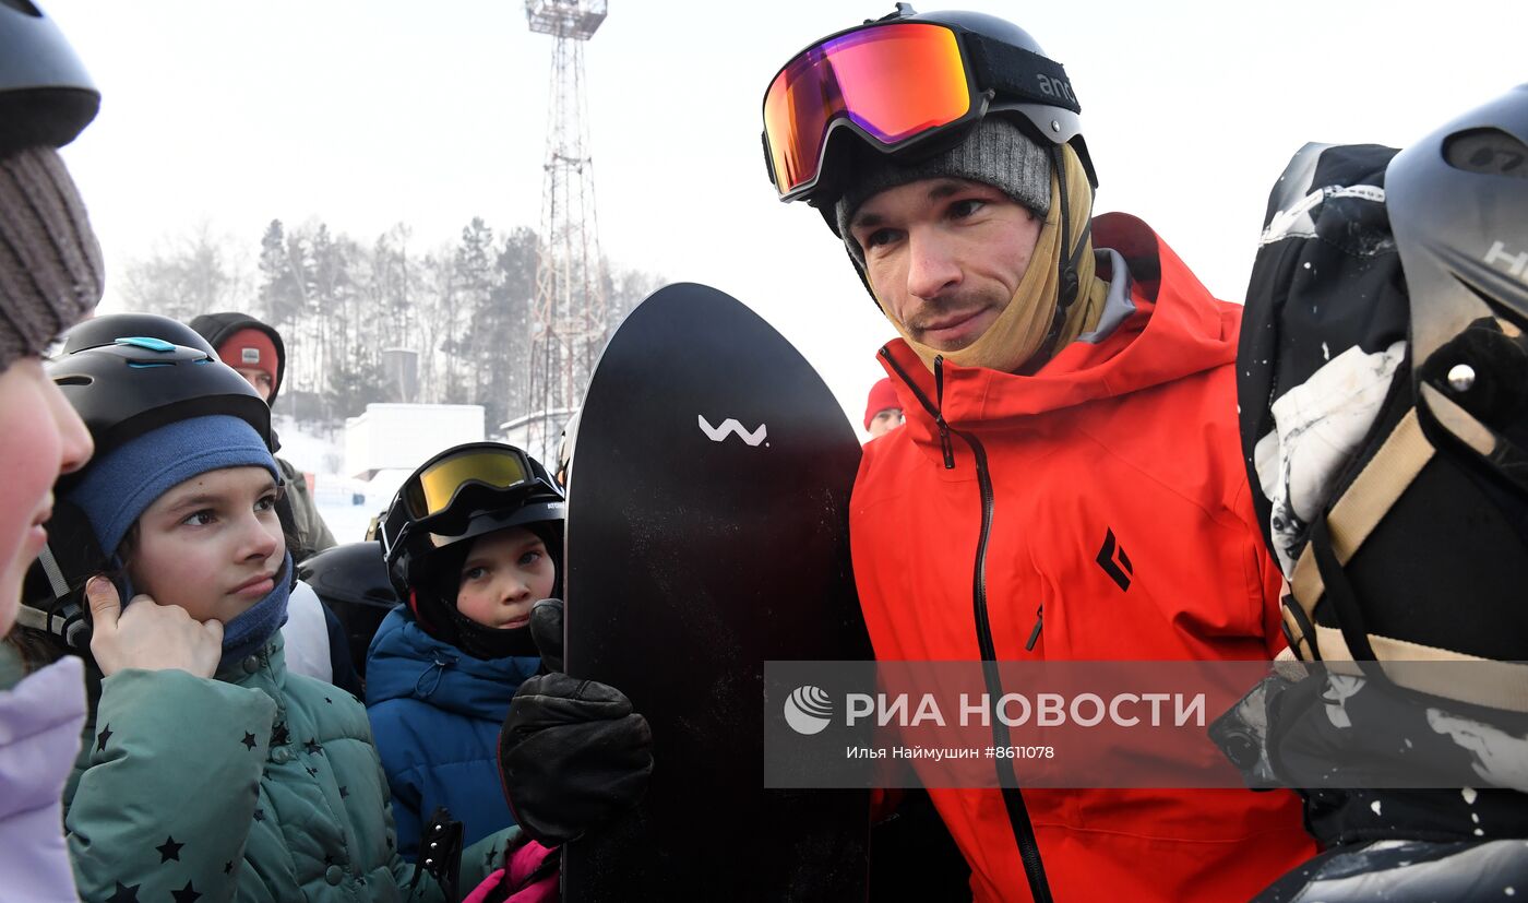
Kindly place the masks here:
[(406, 607), (382, 620), (367, 654), (367, 706), (387, 700), (420, 700), (466, 715), (500, 721), (520, 685), (541, 659), (483, 660), (446, 645), (423, 630)]

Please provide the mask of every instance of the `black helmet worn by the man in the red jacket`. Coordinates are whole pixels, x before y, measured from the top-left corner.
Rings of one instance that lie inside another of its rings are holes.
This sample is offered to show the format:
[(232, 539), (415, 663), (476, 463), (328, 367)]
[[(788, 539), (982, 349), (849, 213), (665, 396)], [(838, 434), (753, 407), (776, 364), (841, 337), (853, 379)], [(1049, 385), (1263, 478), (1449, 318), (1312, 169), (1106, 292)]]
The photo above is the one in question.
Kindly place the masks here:
[[(955, 147), (970, 134), (981, 119), (993, 113), (1010, 118), (1041, 147), (1070, 144), (1088, 174), (1088, 182), (1094, 188), (1099, 186), (1093, 156), (1088, 153), (1088, 144), (1082, 134), (1082, 107), (1076, 99), (1071, 81), (1065, 76), (1062, 66), (1045, 55), (1039, 41), (1012, 21), (984, 12), (960, 9), (917, 12), (911, 3), (897, 3), (894, 12), (879, 20), (868, 20), (860, 26), (827, 35), (807, 49), (810, 50), (828, 40), (862, 28), (911, 21), (943, 24), (957, 34), (967, 67), (986, 86), (984, 95), (978, 98), (978, 104), (984, 102), (984, 108), (958, 125), (929, 130), (926, 136), (911, 141), (895, 151), (888, 151), (879, 142), (869, 139), (847, 115), (830, 121), (824, 127), (827, 136), (822, 142), (817, 185), (811, 193), (798, 200), (807, 200), (811, 206), (816, 206), (834, 234), (837, 234), (839, 228), (833, 215), (833, 205), (842, 194), (845, 182), (840, 171), (851, 168), (854, 157), (853, 145), (857, 144), (877, 153), (891, 153), (898, 160), (920, 160)], [(796, 53), (792, 60), (799, 55)], [(1038, 63), (1047, 70), (1044, 93), (1033, 89), (1027, 78), (1034, 75), (1030, 63), (1027, 63), (1030, 55), (1039, 58)], [(773, 165), (769, 160), (767, 138), (766, 167), (769, 168), (770, 180), (775, 180)]]

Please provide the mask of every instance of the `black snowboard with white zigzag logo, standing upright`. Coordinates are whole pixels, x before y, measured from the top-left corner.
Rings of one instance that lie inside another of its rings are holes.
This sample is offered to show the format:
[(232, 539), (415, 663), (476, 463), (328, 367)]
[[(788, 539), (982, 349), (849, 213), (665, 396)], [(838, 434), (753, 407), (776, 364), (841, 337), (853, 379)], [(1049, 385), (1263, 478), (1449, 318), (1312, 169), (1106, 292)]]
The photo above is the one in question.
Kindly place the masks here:
[(605, 348), (568, 480), (567, 671), (652, 726), (648, 795), (568, 843), (568, 903), (863, 900), (868, 791), (764, 790), (764, 662), (869, 659), (848, 500), (860, 448), (736, 299), (660, 289)]

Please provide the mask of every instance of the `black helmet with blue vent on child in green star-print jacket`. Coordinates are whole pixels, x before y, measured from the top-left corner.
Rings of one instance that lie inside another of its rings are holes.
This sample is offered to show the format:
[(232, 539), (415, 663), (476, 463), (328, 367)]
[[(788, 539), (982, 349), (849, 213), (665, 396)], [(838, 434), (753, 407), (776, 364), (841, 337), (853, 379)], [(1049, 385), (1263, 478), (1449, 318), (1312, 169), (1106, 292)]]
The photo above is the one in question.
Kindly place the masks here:
[(232, 414), (272, 445), (264, 399), (202, 348), (128, 336), (55, 358), (46, 370), (90, 431), (98, 457), (167, 423), (208, 414)]

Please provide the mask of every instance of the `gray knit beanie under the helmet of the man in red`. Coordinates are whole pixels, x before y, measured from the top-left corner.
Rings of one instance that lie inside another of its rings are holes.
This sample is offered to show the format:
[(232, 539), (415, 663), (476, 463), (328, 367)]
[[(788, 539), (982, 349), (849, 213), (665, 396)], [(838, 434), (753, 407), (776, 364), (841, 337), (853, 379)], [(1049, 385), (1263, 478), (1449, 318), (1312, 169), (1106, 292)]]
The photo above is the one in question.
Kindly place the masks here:
[(1050, 156), (1001, 116), (987, 116), (966, 141), (926, 160), (905, 167), (886, 154), (862, 153), (851, 165), (856, 173), (833, 212), (839, 235), (860, 267), (865, 266), (865, 249), (850, 234), (850, 220), (876, 194), (908, 182), (947, 176), (970, 179), (1002, 189), (1042, 218), (1050, 214)]

